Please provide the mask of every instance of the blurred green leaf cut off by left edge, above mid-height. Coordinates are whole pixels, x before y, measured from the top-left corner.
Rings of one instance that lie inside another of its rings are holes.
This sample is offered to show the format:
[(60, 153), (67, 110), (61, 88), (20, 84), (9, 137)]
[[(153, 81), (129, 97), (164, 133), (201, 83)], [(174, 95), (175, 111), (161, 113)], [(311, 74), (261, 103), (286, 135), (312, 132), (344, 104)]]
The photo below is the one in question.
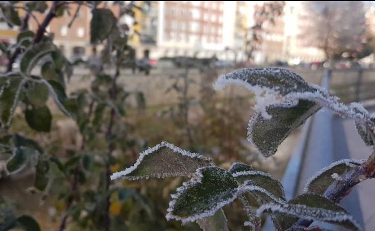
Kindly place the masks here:
[(1, 121), (6, 127), (9, 127), (13, 113), (17, 107), (20, 92), (26, 80), (15, 74), (8, 76), (8, 82), (2, 86), (2, 94), (0, 95), (0, 112)]

